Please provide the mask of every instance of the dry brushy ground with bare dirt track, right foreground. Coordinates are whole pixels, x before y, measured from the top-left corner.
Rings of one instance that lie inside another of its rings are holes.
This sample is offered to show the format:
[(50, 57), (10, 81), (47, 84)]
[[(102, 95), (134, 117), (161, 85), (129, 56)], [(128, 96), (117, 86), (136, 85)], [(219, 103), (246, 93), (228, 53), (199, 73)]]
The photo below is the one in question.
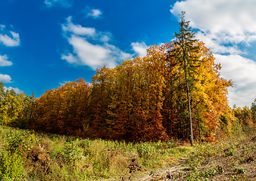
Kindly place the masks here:
[(170, 167), (147, 172), (130, 180), (256, 180), (255, 132), (200, 143), (191, 155)]

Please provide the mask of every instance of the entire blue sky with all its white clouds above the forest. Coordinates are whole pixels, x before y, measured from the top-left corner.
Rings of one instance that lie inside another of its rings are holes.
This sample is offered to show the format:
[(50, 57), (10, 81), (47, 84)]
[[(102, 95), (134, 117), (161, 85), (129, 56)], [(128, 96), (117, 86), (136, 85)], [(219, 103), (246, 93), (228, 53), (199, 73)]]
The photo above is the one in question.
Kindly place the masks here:
[(173, 40), (179, 14), (233, 79), (229, 106), (256, 98), (254, 0), (2, 0), (0, 81), (40, 97), (68, 81), (91, 81), (96, 69), (145, 56)]

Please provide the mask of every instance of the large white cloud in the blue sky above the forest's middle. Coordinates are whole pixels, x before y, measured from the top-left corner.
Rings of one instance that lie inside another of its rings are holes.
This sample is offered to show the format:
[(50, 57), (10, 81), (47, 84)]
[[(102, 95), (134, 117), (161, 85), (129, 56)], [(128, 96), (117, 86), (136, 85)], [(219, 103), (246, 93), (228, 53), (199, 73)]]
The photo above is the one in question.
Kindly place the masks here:
[(89, 66), (92, 69), (102, 66), (113, 68), (120, 60), (132, 57), (108, 43), (111, 39), (109, 32), (99, 32), (93, 28), (74, 25), (70, 17), (67, 18), (67, 24), (62, 25), (62, 28), (69, 44), (73, 47), (73, 52), (62, 54), (61, 59), (70, 64)]

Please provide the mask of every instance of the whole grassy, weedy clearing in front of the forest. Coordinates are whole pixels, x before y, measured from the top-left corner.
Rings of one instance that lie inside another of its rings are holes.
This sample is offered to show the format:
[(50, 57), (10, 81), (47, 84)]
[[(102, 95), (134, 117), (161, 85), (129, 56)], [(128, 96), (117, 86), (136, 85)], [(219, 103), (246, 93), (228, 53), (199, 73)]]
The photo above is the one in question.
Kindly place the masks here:
[(256, 180), (256, 136), (124, 143), (0, 128), (0, 180)]

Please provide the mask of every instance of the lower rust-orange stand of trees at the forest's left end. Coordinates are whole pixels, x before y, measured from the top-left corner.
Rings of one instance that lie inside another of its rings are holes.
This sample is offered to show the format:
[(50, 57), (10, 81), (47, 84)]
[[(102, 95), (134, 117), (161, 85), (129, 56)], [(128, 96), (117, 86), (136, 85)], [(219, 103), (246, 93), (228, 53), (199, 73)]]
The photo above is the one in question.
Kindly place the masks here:
[(83, 78), (46, 91), (36, 99), (30, 128), (83, 136), (89, 115), (90, 86)]

